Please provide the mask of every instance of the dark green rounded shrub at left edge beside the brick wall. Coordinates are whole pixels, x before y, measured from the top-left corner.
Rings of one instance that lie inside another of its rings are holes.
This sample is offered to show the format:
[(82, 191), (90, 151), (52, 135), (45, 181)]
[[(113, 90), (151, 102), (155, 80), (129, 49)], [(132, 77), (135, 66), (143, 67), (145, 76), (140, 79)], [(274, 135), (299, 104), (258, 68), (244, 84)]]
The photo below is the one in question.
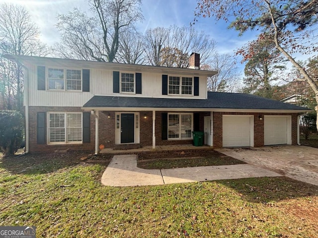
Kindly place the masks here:
[(16, 111), (0, 110), (0, 151), (3, 157), (13, 155), (18, 150), (22, 135), (22, 115)]

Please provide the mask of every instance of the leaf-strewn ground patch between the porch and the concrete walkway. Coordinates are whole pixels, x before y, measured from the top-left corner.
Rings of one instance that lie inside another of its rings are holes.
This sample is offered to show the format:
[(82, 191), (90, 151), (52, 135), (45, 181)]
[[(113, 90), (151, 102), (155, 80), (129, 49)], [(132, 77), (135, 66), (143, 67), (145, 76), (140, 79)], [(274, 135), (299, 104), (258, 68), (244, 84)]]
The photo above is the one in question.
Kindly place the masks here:
[(145, 152), (138, 154), (137, 161), (137, 166), (142, 169), (174, 169), (238, 164), (245, 164), (245, 162), (209, 149)]

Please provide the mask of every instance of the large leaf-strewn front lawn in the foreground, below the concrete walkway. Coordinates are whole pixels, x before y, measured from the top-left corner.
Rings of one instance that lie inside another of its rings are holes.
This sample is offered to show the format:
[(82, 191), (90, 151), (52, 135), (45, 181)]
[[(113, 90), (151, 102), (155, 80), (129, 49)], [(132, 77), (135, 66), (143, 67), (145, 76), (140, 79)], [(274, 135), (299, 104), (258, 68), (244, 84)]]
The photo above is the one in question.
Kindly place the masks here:
[(109, 160), (0, 159), (0, 226), (37, 237), (317, 237), (318, 187), (287, 178), (107, 187)]

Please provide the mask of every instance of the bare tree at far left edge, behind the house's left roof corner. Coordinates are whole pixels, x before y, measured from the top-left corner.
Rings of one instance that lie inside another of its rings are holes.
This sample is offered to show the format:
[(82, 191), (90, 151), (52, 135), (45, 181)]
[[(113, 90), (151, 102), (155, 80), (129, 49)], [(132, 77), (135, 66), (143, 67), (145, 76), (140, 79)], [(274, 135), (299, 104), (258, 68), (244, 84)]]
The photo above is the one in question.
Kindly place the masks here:
[[(0, 55), (46, 56), (51, 52), (38, 39), (38, 27), (31, 21), (29, 12), (13, 4), (0, 5)], [(22, 68), (14, 62), (0, 60), (1, 94), (7, 97), (6, 106), (12, 109), (12, 97), (15, 98), (14, 109), (22, 111), (23, 74)]]

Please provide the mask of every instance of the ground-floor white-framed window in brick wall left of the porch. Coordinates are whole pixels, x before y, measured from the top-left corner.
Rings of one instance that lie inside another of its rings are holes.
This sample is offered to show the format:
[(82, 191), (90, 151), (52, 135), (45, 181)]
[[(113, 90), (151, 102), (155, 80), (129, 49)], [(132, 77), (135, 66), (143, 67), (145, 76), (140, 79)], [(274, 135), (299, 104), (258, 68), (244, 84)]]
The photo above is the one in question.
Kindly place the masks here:
[(48, 113), (49, 144), (81, 143), (82, 113)]

